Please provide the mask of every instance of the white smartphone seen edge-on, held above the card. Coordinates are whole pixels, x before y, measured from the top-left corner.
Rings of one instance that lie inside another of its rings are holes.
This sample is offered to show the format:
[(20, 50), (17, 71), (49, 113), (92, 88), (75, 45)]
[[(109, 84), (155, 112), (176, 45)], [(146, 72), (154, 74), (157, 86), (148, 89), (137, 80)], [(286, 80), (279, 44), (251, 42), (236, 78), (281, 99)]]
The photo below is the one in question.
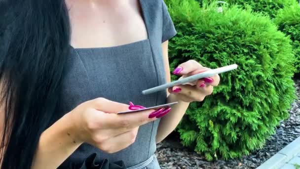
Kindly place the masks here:
[(167, 89), (169, 87), (173, 87), (175, 85), (186, 84), (186, 83), (190, 83), (190, 82), (202, 79), (202, 78), (208, 78), (208, 77), (212, 77), (214, 75), (220, 74), (220, 73), (228, 72), (228, 71), (237, 69), (237, 67), (238, 66), (236, 64), (233, 64), (233, 65), (229, 65), (229, 66), (225, 66), (225, 67), (221, 67), (221, 68), (217, 68), (217, 69), (211, 69), (211, 70), (208, 70), (203, 73), (199, 73), (199, 74), (196, 74), (193, 76), (189, 76), (187, 78), (180, 79), (178, 81), (174, 81), (174, 82), (171, 82), (168, 84), (162, 84), (162, 85), (144, 90), (144, 91), (142, 91), (142, 93), (143, 94), (151, 94), (151, 93), (154, 93), (157, 91), (165, 90), (165, 89)]

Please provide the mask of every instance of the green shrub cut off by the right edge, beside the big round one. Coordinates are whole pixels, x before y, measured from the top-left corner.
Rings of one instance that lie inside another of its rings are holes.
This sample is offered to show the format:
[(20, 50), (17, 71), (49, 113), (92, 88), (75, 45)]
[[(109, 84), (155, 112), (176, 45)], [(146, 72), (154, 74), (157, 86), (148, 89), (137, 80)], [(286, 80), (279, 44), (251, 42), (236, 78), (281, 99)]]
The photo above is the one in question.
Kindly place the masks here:
[(296, 72), (300, 73), (300, 5), (295, 4), (280, 10), (274, 19), (279, 30), (290, 36), (296, 56)]

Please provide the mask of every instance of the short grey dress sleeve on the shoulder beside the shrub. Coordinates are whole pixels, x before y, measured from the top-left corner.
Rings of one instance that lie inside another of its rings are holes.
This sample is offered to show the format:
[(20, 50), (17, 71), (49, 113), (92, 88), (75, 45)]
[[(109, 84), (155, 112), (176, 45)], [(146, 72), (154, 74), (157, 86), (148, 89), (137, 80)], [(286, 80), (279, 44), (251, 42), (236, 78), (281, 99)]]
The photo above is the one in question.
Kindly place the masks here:
[(162, 17), (163, 17), (161, 42), (165, 42), (173, 38), (177, 34), (177, 32), (173, 24), (173, 21), (171, 19), (171, 16), (168, 12), (166, 3), (164, 2), (164, 0), (161, 0), (161, 2), (162, 2)]

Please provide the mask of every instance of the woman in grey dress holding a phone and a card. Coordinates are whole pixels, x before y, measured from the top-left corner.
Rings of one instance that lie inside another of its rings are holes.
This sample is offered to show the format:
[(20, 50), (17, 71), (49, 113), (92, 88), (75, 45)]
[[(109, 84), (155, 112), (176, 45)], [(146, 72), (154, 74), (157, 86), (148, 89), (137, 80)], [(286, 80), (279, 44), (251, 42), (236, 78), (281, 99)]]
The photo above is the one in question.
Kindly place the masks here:
[[(3, 169), (159, 169), (156, 143), (219, 84), (214, 76), (141, 94), (170, 82), (176, 31), (163, 0), (9, 0), (1, 8)], [(173, 73), (206, 70), (191, 60)], [(174, 101), (172, 110), (116, 115)]]

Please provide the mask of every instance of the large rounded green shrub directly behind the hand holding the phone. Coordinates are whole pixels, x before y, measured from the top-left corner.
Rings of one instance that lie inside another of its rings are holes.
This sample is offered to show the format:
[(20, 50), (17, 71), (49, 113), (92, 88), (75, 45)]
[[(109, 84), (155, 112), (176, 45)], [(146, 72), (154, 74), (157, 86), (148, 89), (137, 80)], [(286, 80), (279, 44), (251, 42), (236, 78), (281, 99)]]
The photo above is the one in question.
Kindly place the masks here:
[(220, 13), (194, 0), (166, 2), (178, 31), (169, 45), (171, 70), (189, 59), (210, 68), (239, 65), (220, 75), (212, 96), (190, 104), (177, 128), (182, 143), (207, 160), (261, 148), (295, 98), (290, 39), (268, 17), (237, 6)]

